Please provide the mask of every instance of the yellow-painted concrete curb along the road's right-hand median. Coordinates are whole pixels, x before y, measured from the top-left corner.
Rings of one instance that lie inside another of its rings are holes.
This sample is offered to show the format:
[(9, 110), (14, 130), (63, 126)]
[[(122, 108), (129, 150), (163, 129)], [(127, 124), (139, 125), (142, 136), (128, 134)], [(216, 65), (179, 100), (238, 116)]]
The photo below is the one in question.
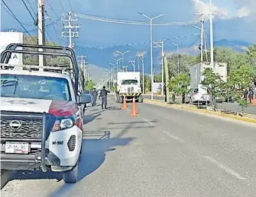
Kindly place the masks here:
[(167, 104), (167, 103), (162, 103), (159, 102), (157, 100), (149, 100), (147, 98), (144, 98), (143, 100), (144, 103), (148, 103), (148, 104), (154, 104), (157, 106), (166, 106), (166, 107), (170, 107), (173, 109), (177, 109), (177, 110), (186, 110), (186, 111), (193, 111), (193, 112), (198, 112), (198, 113), (205, 113), (205, 114), (210, 114), (212, 116), (219, 116), (219, 117), (226, 117), (226, 118), (230, 118), (230, 119), (236, 119), (242, 122), (249, 122), (249, 123), (254, 123), (256, 124), (256, 119), (250, 119), (247, 117), (241, 117), (241, 116), (235, 116), (235, 115), (231, 115), (231, 114), (225, 114), (225, 113), (220, 113), (220, 112), (213, 112), (213, 111), (207, 111), (207, 110), (200, 110), (197, 108), (193, 108), (190, 106), (180, 106), (177, 104)]

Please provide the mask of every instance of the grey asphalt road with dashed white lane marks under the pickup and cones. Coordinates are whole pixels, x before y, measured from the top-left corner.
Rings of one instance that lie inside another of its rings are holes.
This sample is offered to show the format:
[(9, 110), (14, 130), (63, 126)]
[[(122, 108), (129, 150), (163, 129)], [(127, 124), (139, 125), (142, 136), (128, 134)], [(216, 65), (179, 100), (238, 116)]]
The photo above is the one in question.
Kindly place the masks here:
[(138, 112), (89, 107), (79, 183), (20, 172), (2, 197), (255, 196), (256, 127), (146, 103)]

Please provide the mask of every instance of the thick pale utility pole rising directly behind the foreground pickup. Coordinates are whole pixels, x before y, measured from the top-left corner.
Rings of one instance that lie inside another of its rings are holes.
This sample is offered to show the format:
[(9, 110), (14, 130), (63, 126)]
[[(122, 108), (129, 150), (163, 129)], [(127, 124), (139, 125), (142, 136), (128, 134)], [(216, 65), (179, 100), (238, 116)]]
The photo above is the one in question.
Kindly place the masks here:
[[(37, 0), (37, 17), (38, 17), (38, 45), (44, 45), (44, 33), (43, 33), (43, 10), (44, 10), (44, 0)], [(39, 52), (42, 52), (43, 49), (38, 49)], [(44, 68), (44, 56), (39, 55), (39, 71), (43, 71)]]

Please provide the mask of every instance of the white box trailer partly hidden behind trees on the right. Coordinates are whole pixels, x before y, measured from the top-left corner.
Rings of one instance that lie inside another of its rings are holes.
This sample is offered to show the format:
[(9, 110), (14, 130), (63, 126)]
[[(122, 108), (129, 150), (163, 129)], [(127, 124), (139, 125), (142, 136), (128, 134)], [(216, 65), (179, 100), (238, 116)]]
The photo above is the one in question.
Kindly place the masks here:
[[(213, 71), (216, 74), (219, 74), (223, 81), (227, 81), (227, 67), (228, 64), (225, 62), (215, 62), (215, 68)], [(206, 68), (211, 68), (211, 65), (208, 62), (198, 63), (196, 65), (190, 66), (190, 87), (198, 88), (199, 84), (204, 79), (203, 71)]]

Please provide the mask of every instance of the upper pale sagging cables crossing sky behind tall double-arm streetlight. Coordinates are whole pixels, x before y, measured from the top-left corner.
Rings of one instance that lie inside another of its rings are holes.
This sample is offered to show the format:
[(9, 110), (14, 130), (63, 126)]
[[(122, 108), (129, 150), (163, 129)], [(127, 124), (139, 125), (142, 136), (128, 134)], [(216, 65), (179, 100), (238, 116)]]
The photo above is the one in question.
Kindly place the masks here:
[[(143, 21), (125, 21), (125, 20), (117, 20), (117, 19), (110, 19), (110, 18), (103, 18), (103, 17), (96, 17), (86, 14), (74, 14), (76, 17), (86, 18), (92, 21), (102, 21), (108, 23), (115, 23), (115, 24), (136, 24), (136, 25), (151, 25), (150, 23), (143, 22)], [(190, 24), (197, 24), (199, 21), (187, 21), (187, 22), (171, 22), (171, 23), (164, 23), (158, 24), (153, 23), (154, 26), (170, 26), (170, 25), (190, 25)]]

